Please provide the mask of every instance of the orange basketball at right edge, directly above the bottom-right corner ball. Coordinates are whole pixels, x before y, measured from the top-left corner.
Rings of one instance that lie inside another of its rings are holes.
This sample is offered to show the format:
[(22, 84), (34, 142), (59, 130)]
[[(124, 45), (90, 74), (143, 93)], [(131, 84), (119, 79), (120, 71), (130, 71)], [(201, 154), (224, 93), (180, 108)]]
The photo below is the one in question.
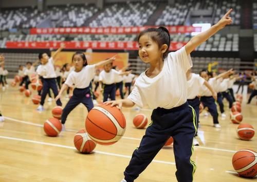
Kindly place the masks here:
[(254, 129), (250, 124), (240, 124), (237, 127), (237, 134), (243, 140), (250, 140), (254, 133)]

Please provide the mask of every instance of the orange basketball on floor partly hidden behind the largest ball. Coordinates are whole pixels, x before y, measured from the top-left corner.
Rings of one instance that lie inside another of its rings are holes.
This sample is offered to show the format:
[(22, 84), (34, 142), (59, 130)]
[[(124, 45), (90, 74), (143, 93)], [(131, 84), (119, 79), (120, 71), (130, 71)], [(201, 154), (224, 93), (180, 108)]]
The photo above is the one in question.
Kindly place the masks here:
[(78, 151), (81, 153), (90, 153), (96, 148), (95, 141), (89, 138), (86, 130), (80, 130), (74, 136), (74, 145)]

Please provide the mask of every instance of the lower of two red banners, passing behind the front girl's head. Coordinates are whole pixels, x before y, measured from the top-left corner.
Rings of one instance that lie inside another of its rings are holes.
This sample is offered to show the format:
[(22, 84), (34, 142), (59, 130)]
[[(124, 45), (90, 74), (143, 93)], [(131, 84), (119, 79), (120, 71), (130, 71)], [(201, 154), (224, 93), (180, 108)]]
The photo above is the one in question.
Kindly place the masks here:
[[(138, 50), (138, 43), (131, 42), (6, 42), (6, 48), (13, 49), (58, 49), (61, 43), (66, 49)], [(187, 43), (171, 42), (170, 50), (178, 50)]]

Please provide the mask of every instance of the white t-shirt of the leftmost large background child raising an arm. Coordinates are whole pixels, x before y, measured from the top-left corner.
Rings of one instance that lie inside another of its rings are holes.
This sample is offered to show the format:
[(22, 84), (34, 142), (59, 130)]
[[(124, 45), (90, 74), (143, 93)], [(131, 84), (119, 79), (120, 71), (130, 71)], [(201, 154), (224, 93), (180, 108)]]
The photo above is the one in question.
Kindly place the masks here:
[(43, 78), (56, 78), (56, 72), (54, 71), (53, 58), (50, 57), (45, 65), (41, 65), (40, 73)]

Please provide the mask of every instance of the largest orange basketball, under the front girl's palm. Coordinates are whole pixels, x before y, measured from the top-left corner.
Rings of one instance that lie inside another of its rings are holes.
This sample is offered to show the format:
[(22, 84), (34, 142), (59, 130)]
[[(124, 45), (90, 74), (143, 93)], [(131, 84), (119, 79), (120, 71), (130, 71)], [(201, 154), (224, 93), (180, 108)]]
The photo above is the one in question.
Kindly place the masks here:
[(125, 133), (126, 120), (117, 107), (101, 104), (87, 114), (85, 126), (87, 134), (96, 143), (112, 145)]

